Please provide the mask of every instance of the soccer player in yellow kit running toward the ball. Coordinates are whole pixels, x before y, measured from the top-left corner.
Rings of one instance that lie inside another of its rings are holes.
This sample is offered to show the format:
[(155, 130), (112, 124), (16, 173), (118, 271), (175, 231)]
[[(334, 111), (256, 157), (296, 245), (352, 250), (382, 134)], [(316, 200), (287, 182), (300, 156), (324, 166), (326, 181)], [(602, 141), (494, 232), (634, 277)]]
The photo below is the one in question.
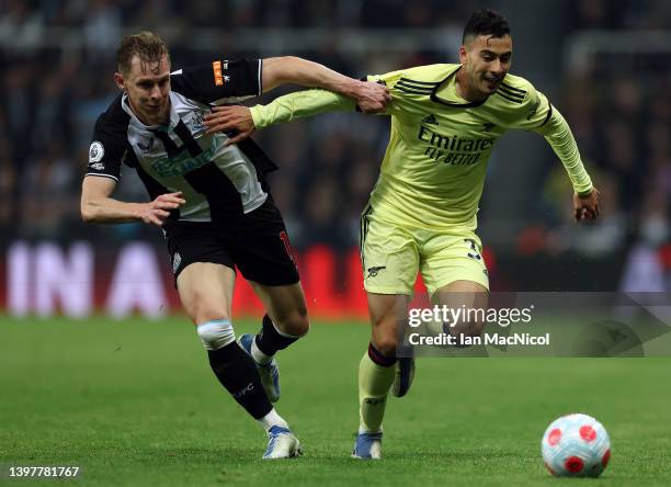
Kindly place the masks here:
[[(489, 281), (476, 235), (487, 163), (510, 128), (545, 137), (573, 185), (576, 219), (599, 214), (599, 192), (584, 170), (561, 114), (524, 78), (510, 75), (508, 21), (481, 10), (468, 21), (460, 64), (421, 66), (369, 81), (385, 83), (393, 102), (389, 145), (362, 213), (361, 259), (372, 337), (359, 369), (360, 429), (352, 456), (379, 458), (382, 421), (390, 390), (407, 393), (412, 359), (396, 358), (398, 324), (407, 318), (418, 272), (432, 301), (486, 308)], [(354, 110), (338, 94), (308, 90), (268, 105), (215, 109), (211, 131), (237, 129), (232, 143), (254, 128), (336, 110)], [(451, 324), (451, 333), (477, 335), (484, 324)], [(456, 326), (455, 326), (456, 325)]]

